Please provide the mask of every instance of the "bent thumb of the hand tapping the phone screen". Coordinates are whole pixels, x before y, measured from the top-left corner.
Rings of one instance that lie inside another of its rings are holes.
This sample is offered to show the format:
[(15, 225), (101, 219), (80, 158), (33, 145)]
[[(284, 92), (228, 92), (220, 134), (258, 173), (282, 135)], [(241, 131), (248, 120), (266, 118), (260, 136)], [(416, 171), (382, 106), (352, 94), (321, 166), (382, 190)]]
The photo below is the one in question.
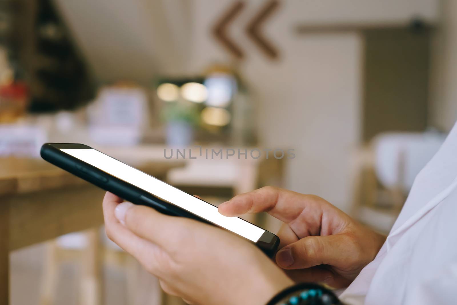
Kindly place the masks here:
[[(345, 263), (345, 254), (352, 247), (345, 234), (307, 236), (289, 244), (276, 253), (276, 263), (284, 269), (303, 269), (318, 265), (339, 267)], [(350, 251), (350, 250), (349, 250)]]

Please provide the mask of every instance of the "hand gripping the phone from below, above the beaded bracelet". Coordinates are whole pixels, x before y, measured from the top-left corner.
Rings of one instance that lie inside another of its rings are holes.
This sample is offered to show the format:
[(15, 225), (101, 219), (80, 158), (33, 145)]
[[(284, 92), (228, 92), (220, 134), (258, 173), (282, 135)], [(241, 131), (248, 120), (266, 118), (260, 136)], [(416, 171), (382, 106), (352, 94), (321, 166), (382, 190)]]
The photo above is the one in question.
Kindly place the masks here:
[(162, 289), (191, 304), (266, 304), (291, 286), (254, 244), (216, 226), (103, 199), (108, 237), (159, 278)]

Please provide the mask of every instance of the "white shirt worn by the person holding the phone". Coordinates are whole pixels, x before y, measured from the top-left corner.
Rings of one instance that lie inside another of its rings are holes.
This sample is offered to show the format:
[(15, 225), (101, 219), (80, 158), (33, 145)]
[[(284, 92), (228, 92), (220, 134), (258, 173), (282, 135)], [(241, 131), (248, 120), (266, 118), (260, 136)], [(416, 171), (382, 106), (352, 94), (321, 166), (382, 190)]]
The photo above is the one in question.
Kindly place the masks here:
[(351, 305), (457, 304), (457, 123), (417, 175), (376, 258), (340, 300)]

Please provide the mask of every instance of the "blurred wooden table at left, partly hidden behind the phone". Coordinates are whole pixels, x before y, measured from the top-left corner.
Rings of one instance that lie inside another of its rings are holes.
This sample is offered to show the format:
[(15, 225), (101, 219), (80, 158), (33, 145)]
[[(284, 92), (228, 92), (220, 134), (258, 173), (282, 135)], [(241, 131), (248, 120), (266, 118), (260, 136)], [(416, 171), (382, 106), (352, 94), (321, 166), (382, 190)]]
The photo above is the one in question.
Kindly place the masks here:
[[(120, 159), (159, 179), (183, 165)], [(101, 225), (104, 193), (43, 160), (0, 159), (0, 304), (9, 304), (9, 251)]]

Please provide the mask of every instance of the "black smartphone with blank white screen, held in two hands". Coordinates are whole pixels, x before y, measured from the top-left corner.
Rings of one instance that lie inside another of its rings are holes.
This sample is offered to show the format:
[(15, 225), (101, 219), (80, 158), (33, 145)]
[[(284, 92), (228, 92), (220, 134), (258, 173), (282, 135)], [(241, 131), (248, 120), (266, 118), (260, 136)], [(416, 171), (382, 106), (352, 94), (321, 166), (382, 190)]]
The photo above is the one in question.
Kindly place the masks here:
[(239, 217), (226, 217), (218, 208), (172, 187), (143, 171), (128, 166), (84, 144), (46, 143), (41, 157), (65, 171), (132, 203), (157, 211), (217, 225), (254, 242), (268, 256), (275, 253), (279, 238)]

